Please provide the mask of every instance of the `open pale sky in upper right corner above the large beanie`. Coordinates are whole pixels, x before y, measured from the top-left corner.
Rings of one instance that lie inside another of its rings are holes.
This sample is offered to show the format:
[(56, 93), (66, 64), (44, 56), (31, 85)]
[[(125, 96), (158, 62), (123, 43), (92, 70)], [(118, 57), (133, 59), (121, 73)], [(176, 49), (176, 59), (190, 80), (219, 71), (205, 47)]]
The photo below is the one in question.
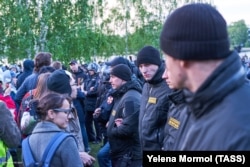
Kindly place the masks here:
[(243, 19), (250, 27), (250, 0), (213, 0), (213, 2), (227, 24)]

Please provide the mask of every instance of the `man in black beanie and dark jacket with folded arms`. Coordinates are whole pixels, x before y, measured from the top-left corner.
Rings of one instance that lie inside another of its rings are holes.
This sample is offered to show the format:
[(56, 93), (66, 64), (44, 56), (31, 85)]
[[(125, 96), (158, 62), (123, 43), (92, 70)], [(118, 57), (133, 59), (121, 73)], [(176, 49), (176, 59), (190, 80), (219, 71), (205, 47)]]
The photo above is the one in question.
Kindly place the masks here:
[[(114, 106), (109, 118), (107, 134), (113, 167), (142, 165), (142, 153), (138, 132), (141, 88), (131, 80), (132, 72), (124, 64), (112, 68), (110, 83)], [(124, 163), (124, 164), (123, 164)]]

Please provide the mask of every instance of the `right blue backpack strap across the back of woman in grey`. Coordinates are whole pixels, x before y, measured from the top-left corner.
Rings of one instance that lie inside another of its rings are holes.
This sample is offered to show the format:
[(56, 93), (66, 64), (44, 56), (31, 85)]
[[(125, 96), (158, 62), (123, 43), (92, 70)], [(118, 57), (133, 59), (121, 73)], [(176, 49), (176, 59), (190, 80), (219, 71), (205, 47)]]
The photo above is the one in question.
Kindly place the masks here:
[(65, 138), (67, 138), (68, 136), (72, 136), (74, 138), (73, 135), (71, 135), (69, 133), (65, 133), (65, 132), (59, 132), (53, 136), (50, 143), (46, 147), (46, 150), (43, 153), (42, 162), (43, 162), (44, 167), (50, 166), (50, 161), (51, 161), (55, 151), (57, 150), (58, 146), (62, 143), (62, 141)]

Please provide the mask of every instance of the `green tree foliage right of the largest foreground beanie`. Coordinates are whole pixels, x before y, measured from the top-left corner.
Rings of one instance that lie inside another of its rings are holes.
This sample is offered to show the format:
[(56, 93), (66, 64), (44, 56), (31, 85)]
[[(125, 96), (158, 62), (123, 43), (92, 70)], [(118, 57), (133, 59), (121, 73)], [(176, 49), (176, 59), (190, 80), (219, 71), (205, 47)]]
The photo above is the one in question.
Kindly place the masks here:
[(247, 26), (244, 20), (239, 20), (234, 22), (228, 26), (228, 33), (231, 41), (231, 45), (238, 46), (238, 45), (245, 45), (247, 42)]

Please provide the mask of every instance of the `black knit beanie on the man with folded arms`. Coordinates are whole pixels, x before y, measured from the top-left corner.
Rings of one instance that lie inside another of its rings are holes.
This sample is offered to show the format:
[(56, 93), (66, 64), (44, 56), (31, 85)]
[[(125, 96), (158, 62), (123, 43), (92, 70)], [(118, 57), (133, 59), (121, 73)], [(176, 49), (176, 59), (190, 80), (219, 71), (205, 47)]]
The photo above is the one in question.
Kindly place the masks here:
[(127, 65), (119, 64), (111, 69), (110, 75), (114, 75), (124, 81), (130, 81), (132, 77), (132, 72)]

